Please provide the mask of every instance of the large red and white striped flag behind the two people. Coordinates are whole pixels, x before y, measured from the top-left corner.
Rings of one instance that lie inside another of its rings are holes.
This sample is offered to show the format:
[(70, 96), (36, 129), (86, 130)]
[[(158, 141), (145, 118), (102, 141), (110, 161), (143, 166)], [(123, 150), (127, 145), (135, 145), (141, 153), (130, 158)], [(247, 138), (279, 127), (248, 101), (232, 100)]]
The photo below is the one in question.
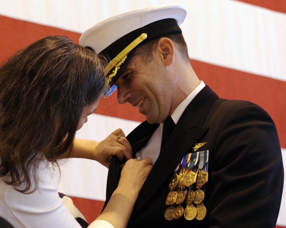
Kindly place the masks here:
[[(0, 61), (44, 36), (78, 43), (82, 32), (110, 16), (174, 2), (187, 9), (180, 27), (198, 78), (220, 97), (252, 101), (271, 115), (286, 167), (286, 0), (0, 0)], [(144, 120), (136, 107), (119, 105), (114, 93), (100, 101), (77, 137), (101, 141), (117, 128), (127, 135)], [(61, 164), (59, 192), (72, 196), (89, 222), (102, 209), (107, 172), (86, 159)], [(286, 227), (285, 192), (277, 227)]]

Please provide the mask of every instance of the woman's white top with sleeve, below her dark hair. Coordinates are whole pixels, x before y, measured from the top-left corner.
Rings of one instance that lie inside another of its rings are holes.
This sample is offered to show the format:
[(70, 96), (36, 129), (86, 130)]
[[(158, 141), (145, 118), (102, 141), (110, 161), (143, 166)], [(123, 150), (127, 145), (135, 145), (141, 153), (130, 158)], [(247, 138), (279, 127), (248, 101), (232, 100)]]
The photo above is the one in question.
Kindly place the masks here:
[[(0, 180), (0, 214), (14, 227), (82, 228), (59, 197), (52, 172), (43, 165), (41, 181), (31, 194), (16, 191)], [(107, 221), (95, 221), (89, 228), (113, 227)]]

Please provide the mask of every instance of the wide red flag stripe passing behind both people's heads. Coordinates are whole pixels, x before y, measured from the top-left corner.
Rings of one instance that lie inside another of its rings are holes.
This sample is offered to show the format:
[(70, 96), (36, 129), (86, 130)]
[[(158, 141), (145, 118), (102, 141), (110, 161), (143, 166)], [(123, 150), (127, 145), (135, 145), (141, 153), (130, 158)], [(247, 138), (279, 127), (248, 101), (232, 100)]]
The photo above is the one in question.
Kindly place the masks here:
[[(0, 16), (0, 61), (16, 50), (48, 35), (62, 34), (78, 42), (80, 34), (66, 30), (38, 25), (35, 23)], [(277, 126), (281, 147), (286, 148), (286, 82), (228, 69), (196, 60), (191, 60), (192, 66), (205, 84), (209, 85), (220, 97), (226, 99), (241, 99), (257, 103), (273, 118)], [(145, 116), (130, 104), (119, 105), (116, 94), (100, 101), (96, 113), (142, 122)]]

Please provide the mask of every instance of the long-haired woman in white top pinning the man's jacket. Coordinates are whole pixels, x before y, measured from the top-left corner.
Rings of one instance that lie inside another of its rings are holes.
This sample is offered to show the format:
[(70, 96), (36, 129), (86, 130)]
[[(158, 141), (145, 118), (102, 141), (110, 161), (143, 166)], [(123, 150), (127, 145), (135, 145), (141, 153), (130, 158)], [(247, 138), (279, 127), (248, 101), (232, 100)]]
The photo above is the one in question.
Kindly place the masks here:
[(71, 157), (108, 167), (112, 155), (128, 161), (113, 200), (88, 227), (126, 226), (151, 159), (130, 159), (121, 129), (102, 142), (74, 138), (107, 90), (98, 56), (64, 36), (42, 38), (0, 68), (0, 216), (14, 227), (87, 227), (57, 193), (53, 170)]

